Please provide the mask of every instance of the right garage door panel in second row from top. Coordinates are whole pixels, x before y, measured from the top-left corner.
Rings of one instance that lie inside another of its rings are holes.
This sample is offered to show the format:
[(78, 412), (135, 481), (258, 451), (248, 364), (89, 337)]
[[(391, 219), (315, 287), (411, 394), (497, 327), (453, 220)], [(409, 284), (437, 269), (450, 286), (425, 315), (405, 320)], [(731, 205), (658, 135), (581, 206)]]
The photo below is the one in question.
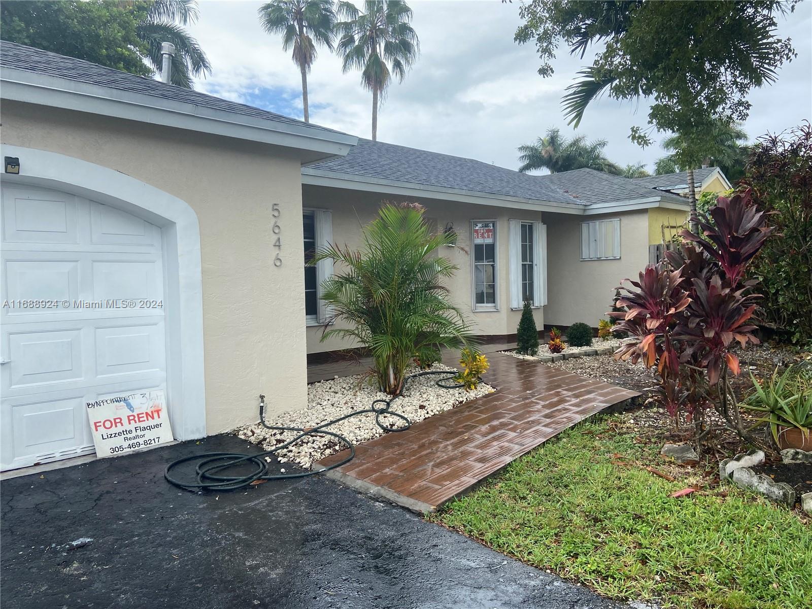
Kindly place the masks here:
[(158, 261), (93, 261), (93, 300), (160, 300)]

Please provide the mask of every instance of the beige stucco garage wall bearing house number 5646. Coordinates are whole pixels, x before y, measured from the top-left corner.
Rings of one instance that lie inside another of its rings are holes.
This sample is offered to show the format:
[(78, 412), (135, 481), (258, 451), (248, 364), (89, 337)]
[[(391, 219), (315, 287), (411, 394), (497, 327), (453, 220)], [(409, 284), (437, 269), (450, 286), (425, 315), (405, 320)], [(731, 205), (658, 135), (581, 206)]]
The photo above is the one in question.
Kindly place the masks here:
[[(298, 158), (270, 145), (6, 101), (0, 137), (122, 171), (194, 209), (209, 434), (256, 421), (259, 394), (273, 410), (304, 407)], [(279, 267), (271, 263), (273, 203), (281, 209)]]

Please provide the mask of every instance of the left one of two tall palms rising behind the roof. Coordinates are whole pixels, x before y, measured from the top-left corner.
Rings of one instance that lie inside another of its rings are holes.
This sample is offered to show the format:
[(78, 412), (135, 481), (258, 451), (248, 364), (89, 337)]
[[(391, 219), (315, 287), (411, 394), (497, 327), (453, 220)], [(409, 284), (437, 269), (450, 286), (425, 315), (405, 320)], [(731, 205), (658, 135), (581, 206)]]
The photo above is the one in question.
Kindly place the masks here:
[(310, 122), (307, 75), (316, 60), (316, 45), (333, 50), (335, 11), (332, 0), (271, 0), (260, 6), (259, 22), (269, 34), (282, 34), (283, 50), (293, 49), (302, 75), (304, 122)]

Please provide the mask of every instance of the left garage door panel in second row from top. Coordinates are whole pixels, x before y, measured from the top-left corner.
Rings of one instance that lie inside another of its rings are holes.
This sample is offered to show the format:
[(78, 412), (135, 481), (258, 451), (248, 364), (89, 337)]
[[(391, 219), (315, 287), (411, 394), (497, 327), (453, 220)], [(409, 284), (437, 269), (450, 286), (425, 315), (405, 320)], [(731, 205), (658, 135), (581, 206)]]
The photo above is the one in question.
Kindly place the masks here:
[[(9, 259), (3, 300), (76, 300), (80, 295), (80, 261)], [(8, 314), (46, 313), (48, 309), (9, 307)]]

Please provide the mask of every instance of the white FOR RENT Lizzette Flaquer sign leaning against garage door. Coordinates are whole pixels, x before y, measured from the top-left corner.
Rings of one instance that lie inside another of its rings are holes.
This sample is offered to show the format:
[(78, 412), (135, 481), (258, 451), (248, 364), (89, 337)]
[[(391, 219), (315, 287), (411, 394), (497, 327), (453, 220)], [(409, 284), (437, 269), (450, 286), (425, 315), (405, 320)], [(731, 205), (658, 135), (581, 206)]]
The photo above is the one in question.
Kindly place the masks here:
[(162, 389), (115, 395), (85, 405), (99, 457), (121, 455), (174, 439)]

